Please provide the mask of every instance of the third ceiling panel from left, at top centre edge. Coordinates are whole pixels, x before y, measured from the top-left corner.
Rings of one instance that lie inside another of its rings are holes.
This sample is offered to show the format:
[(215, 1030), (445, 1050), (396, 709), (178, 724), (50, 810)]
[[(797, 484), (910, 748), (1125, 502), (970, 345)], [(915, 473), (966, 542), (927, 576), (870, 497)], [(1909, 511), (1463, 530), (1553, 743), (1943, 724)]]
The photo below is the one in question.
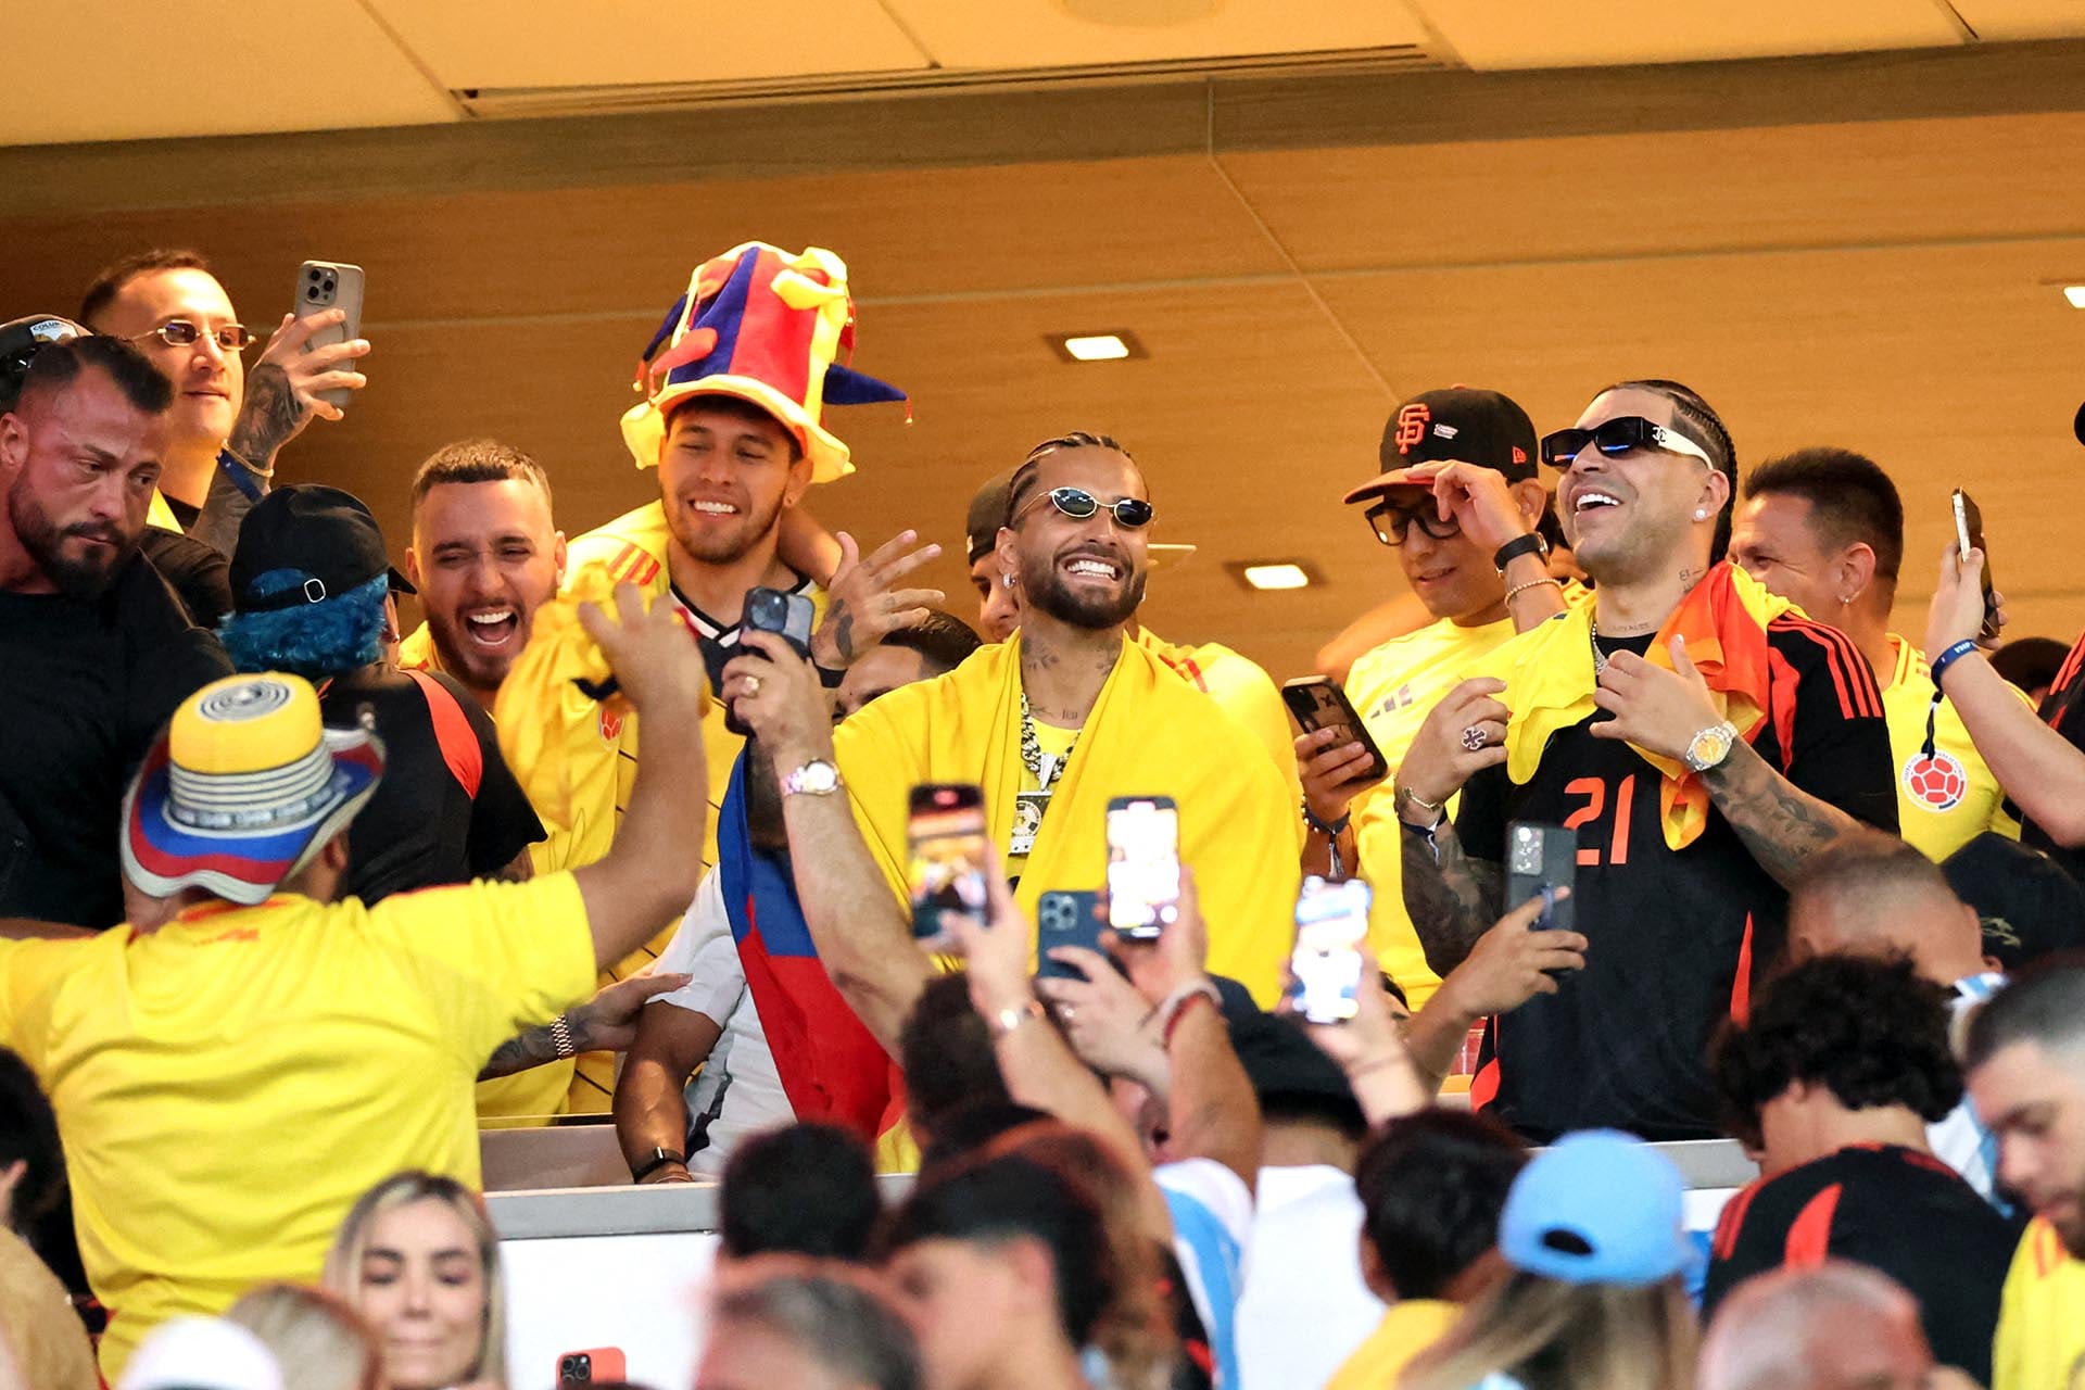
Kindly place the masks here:
[[(888, 0), (940, 67), (1030, 69), (1426, 46), (1393, 0)], [(1113, 17), (1113, 21), (1111, 21)]]

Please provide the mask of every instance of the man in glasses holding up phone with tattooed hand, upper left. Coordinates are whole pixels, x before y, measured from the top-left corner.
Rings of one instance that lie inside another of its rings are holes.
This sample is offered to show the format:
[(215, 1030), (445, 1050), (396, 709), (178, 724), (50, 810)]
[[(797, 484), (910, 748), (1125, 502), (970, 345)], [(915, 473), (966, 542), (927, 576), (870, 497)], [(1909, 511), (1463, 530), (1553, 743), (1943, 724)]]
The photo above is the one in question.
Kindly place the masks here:
[[(169, 529), (223, 554), (231, 554), (246, 508), (267, 492), (275, 452), (313, 415), (342, 417), (319, 392), (367, 383), (354, 371), (369, 352), (365, 340), (304, 352), (313, 333), (344, 321), (338, 308), (309, 319), (284, 315), (248, 373), (246, 352), (259, 336), (240, 323), (208, 260), (192, 250), (146, 250), (106, 267), (88, 286), (79, 321), (131, 342), (173, 381), (158, 483), (171, 508)], [(154, 517), (156, 525), (167, 521)]]

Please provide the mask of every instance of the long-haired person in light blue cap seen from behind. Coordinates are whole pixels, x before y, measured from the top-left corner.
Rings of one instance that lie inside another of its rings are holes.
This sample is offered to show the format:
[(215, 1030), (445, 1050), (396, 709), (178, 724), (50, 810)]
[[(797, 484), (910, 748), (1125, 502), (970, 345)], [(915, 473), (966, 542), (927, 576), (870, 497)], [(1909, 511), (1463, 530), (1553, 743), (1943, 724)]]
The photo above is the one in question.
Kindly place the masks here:
[(1499, 1215), (1512, 1273), (1405, 1369), (1397, 1390), (1693, 1390), (1685, 1184), (1649, 1144), (1568, 1134)]

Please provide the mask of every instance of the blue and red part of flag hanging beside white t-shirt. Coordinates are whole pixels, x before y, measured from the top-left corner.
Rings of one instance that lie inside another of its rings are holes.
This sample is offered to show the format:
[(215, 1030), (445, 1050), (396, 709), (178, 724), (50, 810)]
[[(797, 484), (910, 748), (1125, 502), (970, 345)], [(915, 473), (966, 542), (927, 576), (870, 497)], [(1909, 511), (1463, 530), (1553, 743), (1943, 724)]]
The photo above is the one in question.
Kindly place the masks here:
[(717, 823), (717, 875), (782, 1090), (796, 1119), (842, 1123), (874, 1142), (890, 1107), (890, 1059), (826, 975), (788, 863), (753, 850), (744, 781), (738, 759)]

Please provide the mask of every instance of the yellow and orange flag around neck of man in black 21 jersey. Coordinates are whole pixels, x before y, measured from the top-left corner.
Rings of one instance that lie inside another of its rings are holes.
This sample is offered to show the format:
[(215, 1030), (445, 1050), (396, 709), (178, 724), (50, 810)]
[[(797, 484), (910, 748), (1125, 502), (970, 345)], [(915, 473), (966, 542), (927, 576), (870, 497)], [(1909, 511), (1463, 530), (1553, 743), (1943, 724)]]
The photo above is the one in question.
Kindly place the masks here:
[[(1666, 625), (1658, 629), (1647, 661), (1672, 669), (1672, 638), (1687, 638), (1687, 659), (1701, 671), (1724, 719), (1749, 744), (1774, 725), (1783, 756), (1793, 748), (1795, 673), (1766, 642), (1766, 625), (1793, 604), (1768, 594), (1758, 579), (1728, 561), (1708, 571)], [(1595, 604), (1568, 606), (1557, 617), (1520, 634), (1470, 675), (1505, 681), (1499, 696), (1514, 711), (1505, 721), (1505, 771), (1514, 781), (1535, 777), (1549, 736), (1574, 727), (1593, 704)], [(1637, 748), (1630, 744), (1630, 748)], [(1666, 844), (1683, 850), (1708, 825), (1708, 788), (1685, 763), (1643, 748), (1637, 754), (1662, 775), (1658, 804)]]

